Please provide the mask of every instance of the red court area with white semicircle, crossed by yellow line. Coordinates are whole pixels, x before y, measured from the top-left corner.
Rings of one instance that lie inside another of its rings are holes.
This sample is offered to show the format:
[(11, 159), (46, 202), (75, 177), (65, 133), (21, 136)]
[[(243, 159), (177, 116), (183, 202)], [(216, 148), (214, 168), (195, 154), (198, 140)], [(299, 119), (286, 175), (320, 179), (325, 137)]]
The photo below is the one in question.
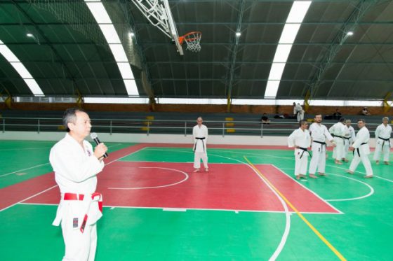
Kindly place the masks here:
[[(255, 167), (298, 211), (338, 213), (275, 167)], [(210, 164), (209, 168), (207, 174), (193, 173), (192, 164), (185, 163), (113, 162), (98, 175), (97, 191), (103, 195), (104, 206), (284, 211), (277, 196), (251, 167)], [(58, 200), (58, 188), (54, 188), (25, 203), (58, 204)]]

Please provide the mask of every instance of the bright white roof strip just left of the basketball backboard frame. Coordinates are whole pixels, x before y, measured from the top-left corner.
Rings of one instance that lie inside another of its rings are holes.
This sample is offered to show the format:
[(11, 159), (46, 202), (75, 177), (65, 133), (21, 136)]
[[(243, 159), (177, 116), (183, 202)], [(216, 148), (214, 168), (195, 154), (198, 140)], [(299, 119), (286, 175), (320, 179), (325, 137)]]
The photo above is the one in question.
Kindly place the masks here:
[(107, 10), (105, 10), (104, 5), (101, 1), (97, 0), (84, 0), (89, 10), (93, 14), (95, 20), (100, 27), (102, 34), (104, 34), (109, 48), (112, 51), (114, 59), (119, 66), (121, 76), (124, 80), (124, 85), (126, 86), (126, 91), (129, 96), (139, 96), (138, 87), (136, 86), (135, 80), (133, 79), (133, 71), (131, 70), (131, 65), (129, 64), (128, 57), (124, 51), (124, 47), (121, 44), (119, 34), (117, 34), (116, 29), (113, 26), (112, 20), (110, 19)]

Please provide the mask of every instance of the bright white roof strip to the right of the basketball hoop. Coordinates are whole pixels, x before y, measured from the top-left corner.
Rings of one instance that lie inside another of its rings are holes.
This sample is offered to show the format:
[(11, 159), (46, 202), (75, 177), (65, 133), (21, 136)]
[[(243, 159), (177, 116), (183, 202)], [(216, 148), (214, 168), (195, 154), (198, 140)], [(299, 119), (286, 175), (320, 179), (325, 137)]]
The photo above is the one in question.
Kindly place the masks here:
[[(293, 42), (300, 29), (300, 25), (305, 18), (311, 1), (294, 1), (291, 11), (286, 18), (286, 24), (281, 33), (279, 45), (277, 45), (276, 54), (274, 55), (272, 68), (270, 69), (269, 79), (267, 80), (265, 98), (274, 98), (277, 96), (279, 84), (284, 72), (286, 61), (291, 52)], [(282, 64), (277, 64), (282, 63)]]

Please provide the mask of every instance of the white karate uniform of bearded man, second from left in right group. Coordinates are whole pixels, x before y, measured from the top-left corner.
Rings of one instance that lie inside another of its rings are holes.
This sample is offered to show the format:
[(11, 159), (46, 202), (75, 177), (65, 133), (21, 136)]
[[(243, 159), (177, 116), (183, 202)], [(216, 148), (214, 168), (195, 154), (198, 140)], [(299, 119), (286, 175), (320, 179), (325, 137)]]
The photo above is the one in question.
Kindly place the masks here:
[(333, 140), (333, 136), (328, 132), (325, 125), (318, 124), (317, 122), (312, 123), (309, 126), (309, 132), (312, 137), (312, 157), (309, 162), (309, 174), (315, 174), (318, 168), (319, 173), (325, 173), (326, 167), (326, 144), (318, 142), (326, 142)]

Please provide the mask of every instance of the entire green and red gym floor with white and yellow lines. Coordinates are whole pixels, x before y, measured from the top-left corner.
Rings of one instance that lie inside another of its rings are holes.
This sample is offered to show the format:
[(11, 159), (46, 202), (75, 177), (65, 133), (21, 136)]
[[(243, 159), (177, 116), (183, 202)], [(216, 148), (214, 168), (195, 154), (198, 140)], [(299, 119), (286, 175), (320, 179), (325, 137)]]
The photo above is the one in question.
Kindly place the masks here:
[[(62, 259), (54, 143), (0, 141), (0, 260)], [(106, 144), (95, 260), (393, 260), (392, 165), (365, 179), (329, 152), (327, 177), (296, 181), (293, 150), (210, 146), (194, 174), (191, 146)]]

